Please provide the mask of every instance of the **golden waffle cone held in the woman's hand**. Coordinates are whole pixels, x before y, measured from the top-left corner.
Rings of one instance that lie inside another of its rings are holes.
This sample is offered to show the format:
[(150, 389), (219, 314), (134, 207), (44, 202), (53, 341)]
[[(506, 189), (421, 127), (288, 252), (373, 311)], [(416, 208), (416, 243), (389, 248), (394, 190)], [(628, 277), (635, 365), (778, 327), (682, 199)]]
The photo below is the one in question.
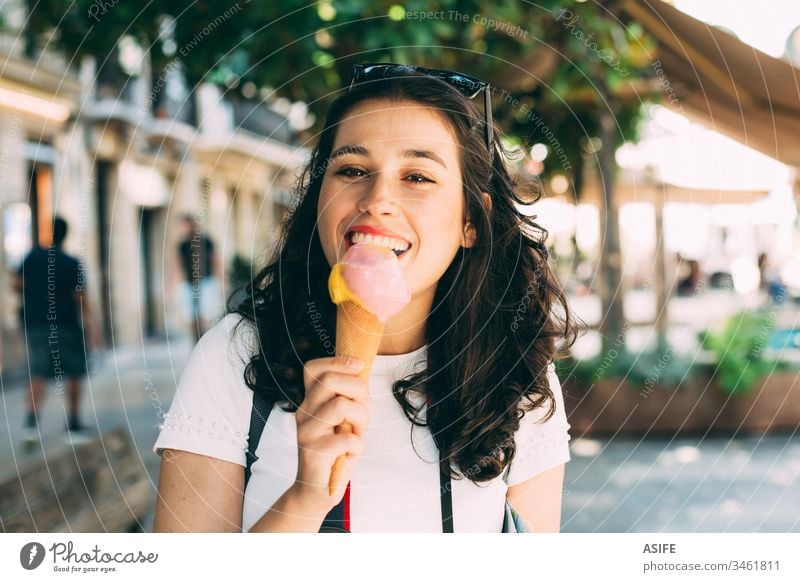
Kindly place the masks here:
[[(352, 301), (345, 301), (337, 306), (336, 355), (350, 356), (364, 362), (364, 367), (358, 374), (362, 380), (369, 378), (381, 337), (383, 337), (383, 322), (373, 313)], [(349, 433), (352, 430), (349, 423), (344, 423), (337, 426), (335, 432)], [(328, 481), (330, 495), (336, 491), (343, 465), (344, 457), (339, 457), (333, 464), (331, 478)]]

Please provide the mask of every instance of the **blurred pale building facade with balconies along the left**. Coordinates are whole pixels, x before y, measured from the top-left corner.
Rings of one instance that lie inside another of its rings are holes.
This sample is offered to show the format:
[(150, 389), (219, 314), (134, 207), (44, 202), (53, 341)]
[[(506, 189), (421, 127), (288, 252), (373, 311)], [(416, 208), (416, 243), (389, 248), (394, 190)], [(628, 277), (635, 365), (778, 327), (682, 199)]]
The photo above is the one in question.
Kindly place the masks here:
[(105, 345), (183, 333), (180, 216), (214, 241), (229, 295), (232, 266), (257, 265), (274, 242), (307, 152), (263, 101), (190, 91), (179, 67), (154, 72), (135, 46), (102, 62), (42, 52), (18, 4), (0, 7), (0, 366), (24, 365), (11, 282), (32, 246), (49, 244), (55, 214)]

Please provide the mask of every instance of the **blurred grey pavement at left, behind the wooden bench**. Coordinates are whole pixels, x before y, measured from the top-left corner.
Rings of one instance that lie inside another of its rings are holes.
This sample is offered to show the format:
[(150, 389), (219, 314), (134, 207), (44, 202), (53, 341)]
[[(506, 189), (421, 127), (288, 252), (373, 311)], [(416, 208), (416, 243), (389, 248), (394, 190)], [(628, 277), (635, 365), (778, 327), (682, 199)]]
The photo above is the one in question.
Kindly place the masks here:
[[(139, 451), (142, 465), (153, 484), (153, 503), (160, 459), (153, 453), (161, 415), (166, 414), (192, 343), (188, 338), (148, 341), (137, 346), (108, 350), (90, 356), (91, 373), (83, 381), (81, 420), (90, 435), (123, 427)], [(66, 394), (49, 382), (39, 411), (41, 442), (23, 446), (28, 385), (19, 377), (6, 382), (0, 377), (0, 482), (26, 467), (67, 450), (63, 437), (67, 420)], [(66, 392), (66, 383), (61, 387)], [(155, 507), (155, 505), (153, 505)], [(152, 519), (150, 516), (149, 519)], [(149, 531), (150, 524), (143, 524)]]

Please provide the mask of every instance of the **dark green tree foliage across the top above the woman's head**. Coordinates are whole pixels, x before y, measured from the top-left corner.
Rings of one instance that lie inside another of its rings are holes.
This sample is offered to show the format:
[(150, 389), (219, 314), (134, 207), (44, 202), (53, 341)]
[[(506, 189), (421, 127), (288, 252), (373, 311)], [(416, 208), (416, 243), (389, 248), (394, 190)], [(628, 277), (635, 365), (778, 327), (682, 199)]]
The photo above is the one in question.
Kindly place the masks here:
[(546, 170), (568, 176), (593, 153), (587, 138), (598, 135), (598, 108), (613, 109), (617, 143), (634, 137), (648, 97), (637, 83), (653, 49), (638, 25), (601, 4), (554, 0), (40, 0), (29, 26), (40, 44), (101, 64), (130, 36), (155, 74), (179, 63), (192, 85), (238, 91), (252, 82), (312, 112), (325, 109), (354, 63), (462, 70), (496, 86), (495, 118), (512, 140), (545, 143), (553, 153)]

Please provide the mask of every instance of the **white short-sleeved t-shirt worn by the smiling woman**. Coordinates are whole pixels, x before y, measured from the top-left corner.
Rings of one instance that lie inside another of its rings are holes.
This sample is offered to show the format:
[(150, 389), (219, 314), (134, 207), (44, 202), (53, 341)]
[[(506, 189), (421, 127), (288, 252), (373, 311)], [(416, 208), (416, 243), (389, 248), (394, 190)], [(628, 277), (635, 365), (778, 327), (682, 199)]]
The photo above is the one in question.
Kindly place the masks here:
[[(244, 383), (243, 371), (252, 350), (249, 346), (255, 345), (249, 343), (254, 342), (255, 330), (244, 322), (232, 342), (231, 332), (239, 319), (226, 316), (195, 346), (155, 443), (156, 453), (179, 449), (246, 466), (253, 393)], [(353, 532), (442, 529), (437, 448), (427, 427), (412, 431), (392, 394), (395, 380), (424, 369), (425, 356), (423, 347), (410, 354), (377, 356), (372, 366), (370, 423), (350, 485)], [(503, 475), (478, 485), (466, 477), (452, 480), (454, 531), (499, 532), (508, 487), (569, 460), (569, 425), (552, 365), (548, 379), (555, 413), (546, 422), (537, 422), (545, 408), (525, 414), (505, 481)], [(256, 456), (259, 460), (252, 466), (245, 492), (244, 531), (294, 483), (297, 426), (293, 413), (273, 408)]]

